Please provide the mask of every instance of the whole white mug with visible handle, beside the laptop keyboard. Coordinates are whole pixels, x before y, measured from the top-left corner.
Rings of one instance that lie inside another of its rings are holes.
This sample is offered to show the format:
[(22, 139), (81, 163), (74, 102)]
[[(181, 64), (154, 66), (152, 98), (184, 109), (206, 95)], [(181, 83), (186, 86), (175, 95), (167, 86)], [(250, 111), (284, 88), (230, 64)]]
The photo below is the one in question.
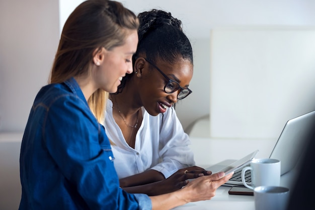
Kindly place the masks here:
[[(277, 159), (254, 159), (250, 166), (245, 167), (242, 170), (243, 184), (250, 189), (254, 189), (258, 186), (279, 186), (281, 176), (280, 164), (280, 161)], [(251, 186), (245, 181), (245, 172), (247, 170), (251, 170)]]

